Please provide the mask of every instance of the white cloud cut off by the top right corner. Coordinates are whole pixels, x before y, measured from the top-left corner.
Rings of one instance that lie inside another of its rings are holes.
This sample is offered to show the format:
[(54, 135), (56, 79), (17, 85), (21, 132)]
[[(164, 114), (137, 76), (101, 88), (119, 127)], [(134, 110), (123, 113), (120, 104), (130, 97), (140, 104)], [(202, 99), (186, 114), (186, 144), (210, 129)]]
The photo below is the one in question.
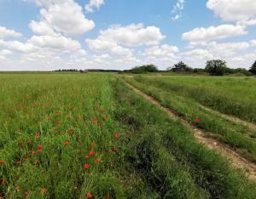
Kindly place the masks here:
[(255, 0), (208, 0), (207, 8), (225, 21), (256, 19)]

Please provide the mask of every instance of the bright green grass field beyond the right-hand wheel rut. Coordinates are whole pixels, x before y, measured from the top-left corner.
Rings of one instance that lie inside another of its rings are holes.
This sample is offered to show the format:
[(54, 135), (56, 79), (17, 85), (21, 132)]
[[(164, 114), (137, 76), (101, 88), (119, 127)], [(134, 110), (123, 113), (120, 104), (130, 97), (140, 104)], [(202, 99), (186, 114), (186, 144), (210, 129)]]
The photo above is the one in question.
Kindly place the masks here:
[(213, 110), (256, 123), (256, 79), (254, 77), (137, 77), (177, 95), (195, 99)]

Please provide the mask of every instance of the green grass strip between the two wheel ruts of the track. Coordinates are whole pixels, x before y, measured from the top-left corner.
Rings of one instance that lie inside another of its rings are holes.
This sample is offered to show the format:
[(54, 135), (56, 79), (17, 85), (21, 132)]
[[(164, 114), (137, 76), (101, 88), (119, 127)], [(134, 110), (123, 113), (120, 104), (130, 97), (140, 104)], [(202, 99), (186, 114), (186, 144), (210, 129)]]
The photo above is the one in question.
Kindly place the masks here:
[[(230, 145), (242, 156), (247, 157), (248, 160), (256, 162), (255, 130), (219, 117), (218, 114), (203, 109), (195, 99), (177, 95), (172, 90), (166, 91), (158, 83), (150, 82), (149, 84), (141, 80), (140, 77), (127, 77), (125, 80), (158, 99), (161, 105), (176, 111), (178, 115), (184, 117), (196, 127), (203, 128), (207, 132), (212, 133), (208, 134), (209, 136), (213, 136), (223, 143)], [(196, 119), (201, 121), (197, 122)]]

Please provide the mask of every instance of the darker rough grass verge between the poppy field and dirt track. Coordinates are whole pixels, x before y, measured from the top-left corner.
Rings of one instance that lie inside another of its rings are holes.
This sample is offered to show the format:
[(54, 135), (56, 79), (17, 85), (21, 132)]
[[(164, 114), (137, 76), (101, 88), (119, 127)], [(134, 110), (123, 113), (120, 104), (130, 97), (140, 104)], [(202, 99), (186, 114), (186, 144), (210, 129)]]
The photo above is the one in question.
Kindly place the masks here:
[(130, 127), (127, 162), (160, 198), (251, 198), (254, 184), (179, 122), (115, 82), (116, 118)]

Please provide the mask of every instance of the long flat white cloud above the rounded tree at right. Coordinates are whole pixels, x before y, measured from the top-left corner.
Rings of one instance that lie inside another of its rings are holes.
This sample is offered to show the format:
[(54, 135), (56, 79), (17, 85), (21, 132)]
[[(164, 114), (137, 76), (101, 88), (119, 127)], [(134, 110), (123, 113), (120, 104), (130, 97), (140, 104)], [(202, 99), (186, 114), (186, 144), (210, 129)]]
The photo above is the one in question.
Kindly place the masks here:
[(245, 26), (221, 25), (210, 26), (207, 28), (199, 27), (192, 31), (184, 32), (182, 39), (190, 43), (203, 43), (213, 40), (224, 39), (228, 37), (236, 37), (246, 35)]

